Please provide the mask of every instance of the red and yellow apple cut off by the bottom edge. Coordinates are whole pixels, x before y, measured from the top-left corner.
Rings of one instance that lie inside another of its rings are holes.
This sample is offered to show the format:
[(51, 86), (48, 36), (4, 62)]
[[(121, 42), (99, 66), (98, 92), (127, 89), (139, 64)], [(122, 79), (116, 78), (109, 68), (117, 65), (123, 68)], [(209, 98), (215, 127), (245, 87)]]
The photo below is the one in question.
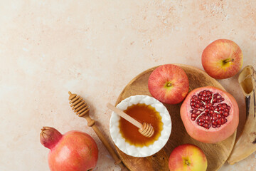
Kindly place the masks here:
[(180, 145), (171, 152), (169, 170), (205, 171), (207, 168), (206, 155), (196, 145)]

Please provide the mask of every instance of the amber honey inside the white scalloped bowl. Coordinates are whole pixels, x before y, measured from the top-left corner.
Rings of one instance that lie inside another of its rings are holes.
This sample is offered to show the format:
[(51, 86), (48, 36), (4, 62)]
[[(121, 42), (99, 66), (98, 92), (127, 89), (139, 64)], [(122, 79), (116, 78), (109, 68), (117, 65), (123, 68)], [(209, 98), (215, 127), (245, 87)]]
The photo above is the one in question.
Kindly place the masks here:
[(119, 129), (122, 137), (129, 142), (130, 145), (137, 147), (144, 147), (153, 144), (159, 139), (161, 130), (163, 130), (163, 123), (161, 122), (161, 115), (151, 105), (144, 103), (138, 103), (136, 105), (129, 106), (124, 113), (131, 116), (140, 123), (149, 123), (154, 128), (154, 135), (150, 138), (145, 137), (136, 126), (129, 123), (124, 118), (119, 120)]

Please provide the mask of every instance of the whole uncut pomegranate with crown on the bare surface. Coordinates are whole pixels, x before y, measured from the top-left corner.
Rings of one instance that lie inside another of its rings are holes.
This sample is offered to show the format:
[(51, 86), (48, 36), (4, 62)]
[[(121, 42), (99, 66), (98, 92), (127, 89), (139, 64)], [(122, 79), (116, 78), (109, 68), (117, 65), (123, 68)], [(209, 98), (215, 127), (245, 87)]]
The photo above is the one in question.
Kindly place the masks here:
[(98, 149), (90, 135), (75, 130), (61, 135), (51, 127), (41, 130), (41, 144), (50, 149), (48, 163), (51, 171), (87, 171), (95, 168)]

